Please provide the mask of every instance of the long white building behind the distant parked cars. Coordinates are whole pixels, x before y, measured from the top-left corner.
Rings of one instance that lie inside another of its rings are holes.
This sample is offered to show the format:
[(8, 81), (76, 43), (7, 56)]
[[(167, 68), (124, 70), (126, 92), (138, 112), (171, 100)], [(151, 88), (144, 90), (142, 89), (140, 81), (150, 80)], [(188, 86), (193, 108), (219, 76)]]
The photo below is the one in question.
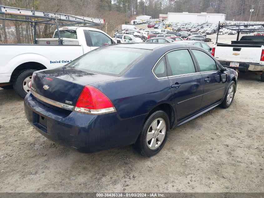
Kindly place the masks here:
[(218, 23), (224, 22), (226, 18), (225, 14), (210, 14), (210, 13), (168, 13), (169, 22), (179, 23)]

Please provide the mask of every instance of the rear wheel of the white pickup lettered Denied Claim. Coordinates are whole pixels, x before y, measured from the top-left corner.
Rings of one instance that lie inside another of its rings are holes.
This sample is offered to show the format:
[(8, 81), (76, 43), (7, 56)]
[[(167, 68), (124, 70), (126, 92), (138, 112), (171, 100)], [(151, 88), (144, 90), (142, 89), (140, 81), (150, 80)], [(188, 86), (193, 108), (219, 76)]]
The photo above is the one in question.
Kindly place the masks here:
[(33, 72), (35, 69), (22, 70), (15, 78), (13, 88), (15, 92), (22, 98), (25, 98), (27, 93), (30, 91), (30, 82)]

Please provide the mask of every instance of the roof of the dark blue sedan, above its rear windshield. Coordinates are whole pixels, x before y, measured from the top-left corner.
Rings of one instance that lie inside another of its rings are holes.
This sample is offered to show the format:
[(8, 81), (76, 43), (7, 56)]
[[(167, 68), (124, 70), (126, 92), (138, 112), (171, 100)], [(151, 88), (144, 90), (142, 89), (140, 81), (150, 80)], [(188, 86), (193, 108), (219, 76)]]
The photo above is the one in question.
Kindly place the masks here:
[[(180, 41), (177, 41), (177, 42), (180, 42)], [(106, 45), (103, 47), (138, 48), (138, 49), (148, 49), (148, 50), (154, 50), (155, 48), (163, 48), (163, 47), (168, 47), (168, 46), (170, 46), (170, 48), (173, 48), (173, 49), (186, 48), (186, 47), (190, 47), (190, 48), (197, 47), (195, 45), (188, 46), (188, 43), (175, 45), (175, 43), (177, 42), (172, 42), (172, 43), (117, 43), (117, 44), (112, 44), (112, 45)]]

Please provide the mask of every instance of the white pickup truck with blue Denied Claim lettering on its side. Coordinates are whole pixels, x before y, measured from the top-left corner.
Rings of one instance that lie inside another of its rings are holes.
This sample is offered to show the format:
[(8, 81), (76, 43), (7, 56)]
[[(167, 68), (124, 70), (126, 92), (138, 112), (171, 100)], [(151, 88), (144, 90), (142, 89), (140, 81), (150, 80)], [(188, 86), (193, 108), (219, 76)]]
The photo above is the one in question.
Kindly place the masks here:
[(14, 88), (21, 97), (30, 90), (34, 71), (63, 66), (103, 45), (117, 43), (105, 32), (87, 27), (59, 28), (53, 38), (36, 39), (37, 44), (0, 44), (0, 87)]

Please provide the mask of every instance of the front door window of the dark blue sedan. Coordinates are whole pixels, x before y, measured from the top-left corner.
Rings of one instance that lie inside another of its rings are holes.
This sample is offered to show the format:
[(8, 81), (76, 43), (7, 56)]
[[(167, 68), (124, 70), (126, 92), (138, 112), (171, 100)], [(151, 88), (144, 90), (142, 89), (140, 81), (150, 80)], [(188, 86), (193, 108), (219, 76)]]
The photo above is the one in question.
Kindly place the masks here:
[(192, 52), (197, 60), (201, 72), (217, 70), (214, 59), (211, 58), (207, 53), (194, 49), (192, 49)]

